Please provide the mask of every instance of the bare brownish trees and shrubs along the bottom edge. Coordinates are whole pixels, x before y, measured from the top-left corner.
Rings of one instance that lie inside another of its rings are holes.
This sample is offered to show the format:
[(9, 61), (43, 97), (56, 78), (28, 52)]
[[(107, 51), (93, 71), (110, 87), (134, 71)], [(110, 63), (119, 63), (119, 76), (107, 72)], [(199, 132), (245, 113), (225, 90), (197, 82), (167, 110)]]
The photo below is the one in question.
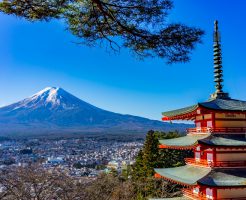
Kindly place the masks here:
[(93, 181), (78, 181), (62, 173), (37, 167), (16, 168), (0, 175), (1, 200), (136, 200), (149, 196), (172, 196), (174, 188), (161, 180), (124, 179), (101, 174)]

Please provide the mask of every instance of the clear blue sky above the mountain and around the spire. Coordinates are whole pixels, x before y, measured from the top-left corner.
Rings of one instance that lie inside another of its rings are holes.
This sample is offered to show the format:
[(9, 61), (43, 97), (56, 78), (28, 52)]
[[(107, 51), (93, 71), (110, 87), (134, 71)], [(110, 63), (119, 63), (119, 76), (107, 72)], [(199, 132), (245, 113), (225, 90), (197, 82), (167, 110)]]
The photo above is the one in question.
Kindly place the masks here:
[(246, 2), (175, 0), (169, 21), (206, 31), (185, 64), (139, 61), (122, 49), (79, 46), (61, 22), (0, 14), (0, 106), (58, 86), (110, 111), (160, 119), (161, 112), (207, 100), (214, 92), (213, 21), (222, 34), (225, 91), (246, 100)]

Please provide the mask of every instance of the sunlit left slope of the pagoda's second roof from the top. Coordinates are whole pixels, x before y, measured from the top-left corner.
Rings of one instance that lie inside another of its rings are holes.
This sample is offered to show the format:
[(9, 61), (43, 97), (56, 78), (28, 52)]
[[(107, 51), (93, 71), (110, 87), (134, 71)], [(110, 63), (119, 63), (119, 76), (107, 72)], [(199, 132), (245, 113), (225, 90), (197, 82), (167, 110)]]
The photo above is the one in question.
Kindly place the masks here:
[(165, 139), (159, 140), (160, 148), (193, 148), (198, 140), (205, 139), (209, 137), (210, 134), (189, 134), (183, 137), (173, 138), (173, 139)]

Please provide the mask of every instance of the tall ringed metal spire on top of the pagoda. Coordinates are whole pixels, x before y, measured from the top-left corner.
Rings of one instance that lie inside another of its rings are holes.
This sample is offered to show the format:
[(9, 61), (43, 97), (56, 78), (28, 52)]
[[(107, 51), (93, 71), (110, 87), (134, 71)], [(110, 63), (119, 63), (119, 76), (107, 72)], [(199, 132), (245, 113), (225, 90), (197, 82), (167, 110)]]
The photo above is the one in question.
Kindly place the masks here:
[(223, 70), (222, 70), (222, 54), (221, 54), (221, 40), (218, 28), (218, 21), (214, 21), (214, 82), (215, 93), (211, 95), (212, 99), (229, 98), (228, 93), (223, 92)]

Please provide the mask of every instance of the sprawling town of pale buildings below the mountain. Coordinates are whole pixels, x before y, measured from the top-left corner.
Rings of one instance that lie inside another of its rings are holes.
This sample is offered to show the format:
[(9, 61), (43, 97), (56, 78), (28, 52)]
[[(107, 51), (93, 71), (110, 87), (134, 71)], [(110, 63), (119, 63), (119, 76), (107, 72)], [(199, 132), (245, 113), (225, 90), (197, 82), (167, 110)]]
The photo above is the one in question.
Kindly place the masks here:
[[(0, 170), (38, 165), (72, 177), (95, 177), (111, 164), (121, 172), (132, 164), (142, 141), (115, 141), (84, 136), (67, 139), (18, 139), (0, 142)], [(113, 162), (112, 162), (113, 161)]]

